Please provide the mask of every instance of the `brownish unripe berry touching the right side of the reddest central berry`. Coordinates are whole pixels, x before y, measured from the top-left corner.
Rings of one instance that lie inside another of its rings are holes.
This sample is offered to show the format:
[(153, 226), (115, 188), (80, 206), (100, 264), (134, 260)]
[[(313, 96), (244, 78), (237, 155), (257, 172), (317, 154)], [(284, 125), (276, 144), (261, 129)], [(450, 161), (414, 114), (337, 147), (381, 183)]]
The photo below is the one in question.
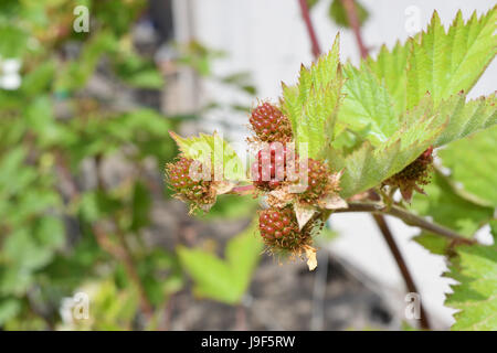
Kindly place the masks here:
[(316, 202), (326, 193), (332, 193), (334, 185), (329, 182), (331, 172), (326, 162), (308, 159), (307, 160), (307, 189), (297, 194), (300, 202), (307, 204), (316, 204)]

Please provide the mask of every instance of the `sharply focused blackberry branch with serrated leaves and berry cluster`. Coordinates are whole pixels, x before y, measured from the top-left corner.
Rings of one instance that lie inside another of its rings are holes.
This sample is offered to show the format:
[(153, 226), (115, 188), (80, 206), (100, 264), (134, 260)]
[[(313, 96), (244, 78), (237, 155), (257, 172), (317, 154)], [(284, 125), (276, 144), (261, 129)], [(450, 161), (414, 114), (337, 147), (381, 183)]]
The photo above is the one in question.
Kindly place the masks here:
[[(334, 213), (370, 212), (387, 235), (383, 215), (419, 227), (415, 240), (446, 256), (459, 282), (446, 301), (461, 309), (454, 328), (496, 330), (496, 96), (468, 98), (496, 55), (496, 9), (467, 21), (459, 11), (447, 31), (434, 12), (405, 43), (376, 57), (361, 50), (358, 66), (340, 62), (337, 36), (295, 85), (283, 85), (277, 104), (253, 109), (254, 163), (244, 165), (218, 135), (176, 137), (183, 158), (236, 175), (219, 181), (224, 192), (261, 196), (262, 242), (269, 253), (306, 257), (310, 270), (313, 238)], [(262, 142), (283, 143), (284, 153)], [(474, 237), (484, 225), (494, 245)]]

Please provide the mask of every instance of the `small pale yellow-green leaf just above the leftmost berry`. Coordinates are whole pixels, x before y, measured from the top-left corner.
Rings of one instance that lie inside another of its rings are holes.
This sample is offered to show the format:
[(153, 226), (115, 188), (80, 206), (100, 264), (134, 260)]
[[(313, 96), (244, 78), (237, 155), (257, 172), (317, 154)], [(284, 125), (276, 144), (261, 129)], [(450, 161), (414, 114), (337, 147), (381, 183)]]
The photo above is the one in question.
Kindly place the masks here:
[[(213, 135), (200, 133), (198, 137), (182, 138), (170, 131), (184, 157), (210, 163), (215, 175), (223, 172), (224, 180), (245, 180), (245, 169), (233, 148), (216, 132)], [(219, 172), (218, 172), (219, 171)]]

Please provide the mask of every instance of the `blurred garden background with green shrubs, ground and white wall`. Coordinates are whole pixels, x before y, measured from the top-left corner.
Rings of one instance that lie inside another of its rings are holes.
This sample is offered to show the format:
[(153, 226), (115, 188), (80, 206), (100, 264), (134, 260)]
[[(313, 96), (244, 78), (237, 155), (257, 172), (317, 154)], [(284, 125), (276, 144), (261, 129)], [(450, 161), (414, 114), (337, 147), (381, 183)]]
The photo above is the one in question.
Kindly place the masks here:
[[(340, 31), (341, 60), (358, 63), (341, 1), (307, 3), (322, 50)], [(356, 1), (372, 55), (435, 9), (448, 25), (493, 6)], [(257, 98), (276, 103), (311, 61), (298, 0), (2, 0), (0, 330), (416, 328), (370, 216), (334, 215), (309, 272), (262, 254), (257, 200), (188, 215), (163, 181), (170, 130), (218, 130), (243, 151)], [(496, 75), (493, 63), (472, 97)], [(443, 257), (388, 221), (433, 328), (447, 329)]]

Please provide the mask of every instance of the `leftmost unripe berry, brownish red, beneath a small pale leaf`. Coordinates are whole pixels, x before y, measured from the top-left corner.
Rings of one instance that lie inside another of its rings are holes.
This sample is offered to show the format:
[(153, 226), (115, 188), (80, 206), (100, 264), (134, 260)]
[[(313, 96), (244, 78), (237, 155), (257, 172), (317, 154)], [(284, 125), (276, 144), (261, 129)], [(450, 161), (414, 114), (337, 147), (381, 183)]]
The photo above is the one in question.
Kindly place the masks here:
[[(169, 183), (177, 192), (178, 199), (191, 202), (193, 206), (202, 207), (210, 205), (215, 201), (215, 192), (213, 191), (212, 182), (209, 180), (193, 180), (190, 176), (190, 167), (193, 163), (192, 159), (180, 157), (175, 163), (166, 165), (166, 173)], [(200, 176), (202, 165), (195, 170)], [(195, 178), (197, 179), (197, 178)]]

